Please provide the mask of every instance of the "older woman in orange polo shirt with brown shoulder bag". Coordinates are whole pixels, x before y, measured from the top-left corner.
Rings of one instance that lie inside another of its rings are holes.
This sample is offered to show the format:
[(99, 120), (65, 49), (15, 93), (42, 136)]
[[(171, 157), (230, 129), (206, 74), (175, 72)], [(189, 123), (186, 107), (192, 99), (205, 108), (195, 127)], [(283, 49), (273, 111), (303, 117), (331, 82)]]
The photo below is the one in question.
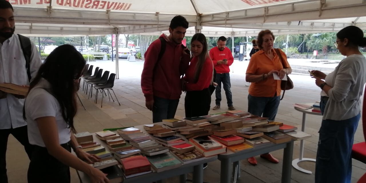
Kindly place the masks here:
[[(275, 36), (270, 30), (262, 30), (258, 34), (257, 45), (259, 51), (252, 55), (246, 71), (246, 81), (251, 82), (248, 95), (248, 112), (254, 115), (268, 117), (275, 120), (278, 106), (280, 105), (281, 80), (273, 79), (273, 74), (282, 79), (286, 74), (291, 74), (287, 56), (280, 50), (285, 63), (281, 63), (279, 55), (273, 49)], [(262, 158), (272, 163), (279, 161), (271, 154), (261, 154)], [(252, 165), (257, 164), (254, 157), (248, 158)]]

